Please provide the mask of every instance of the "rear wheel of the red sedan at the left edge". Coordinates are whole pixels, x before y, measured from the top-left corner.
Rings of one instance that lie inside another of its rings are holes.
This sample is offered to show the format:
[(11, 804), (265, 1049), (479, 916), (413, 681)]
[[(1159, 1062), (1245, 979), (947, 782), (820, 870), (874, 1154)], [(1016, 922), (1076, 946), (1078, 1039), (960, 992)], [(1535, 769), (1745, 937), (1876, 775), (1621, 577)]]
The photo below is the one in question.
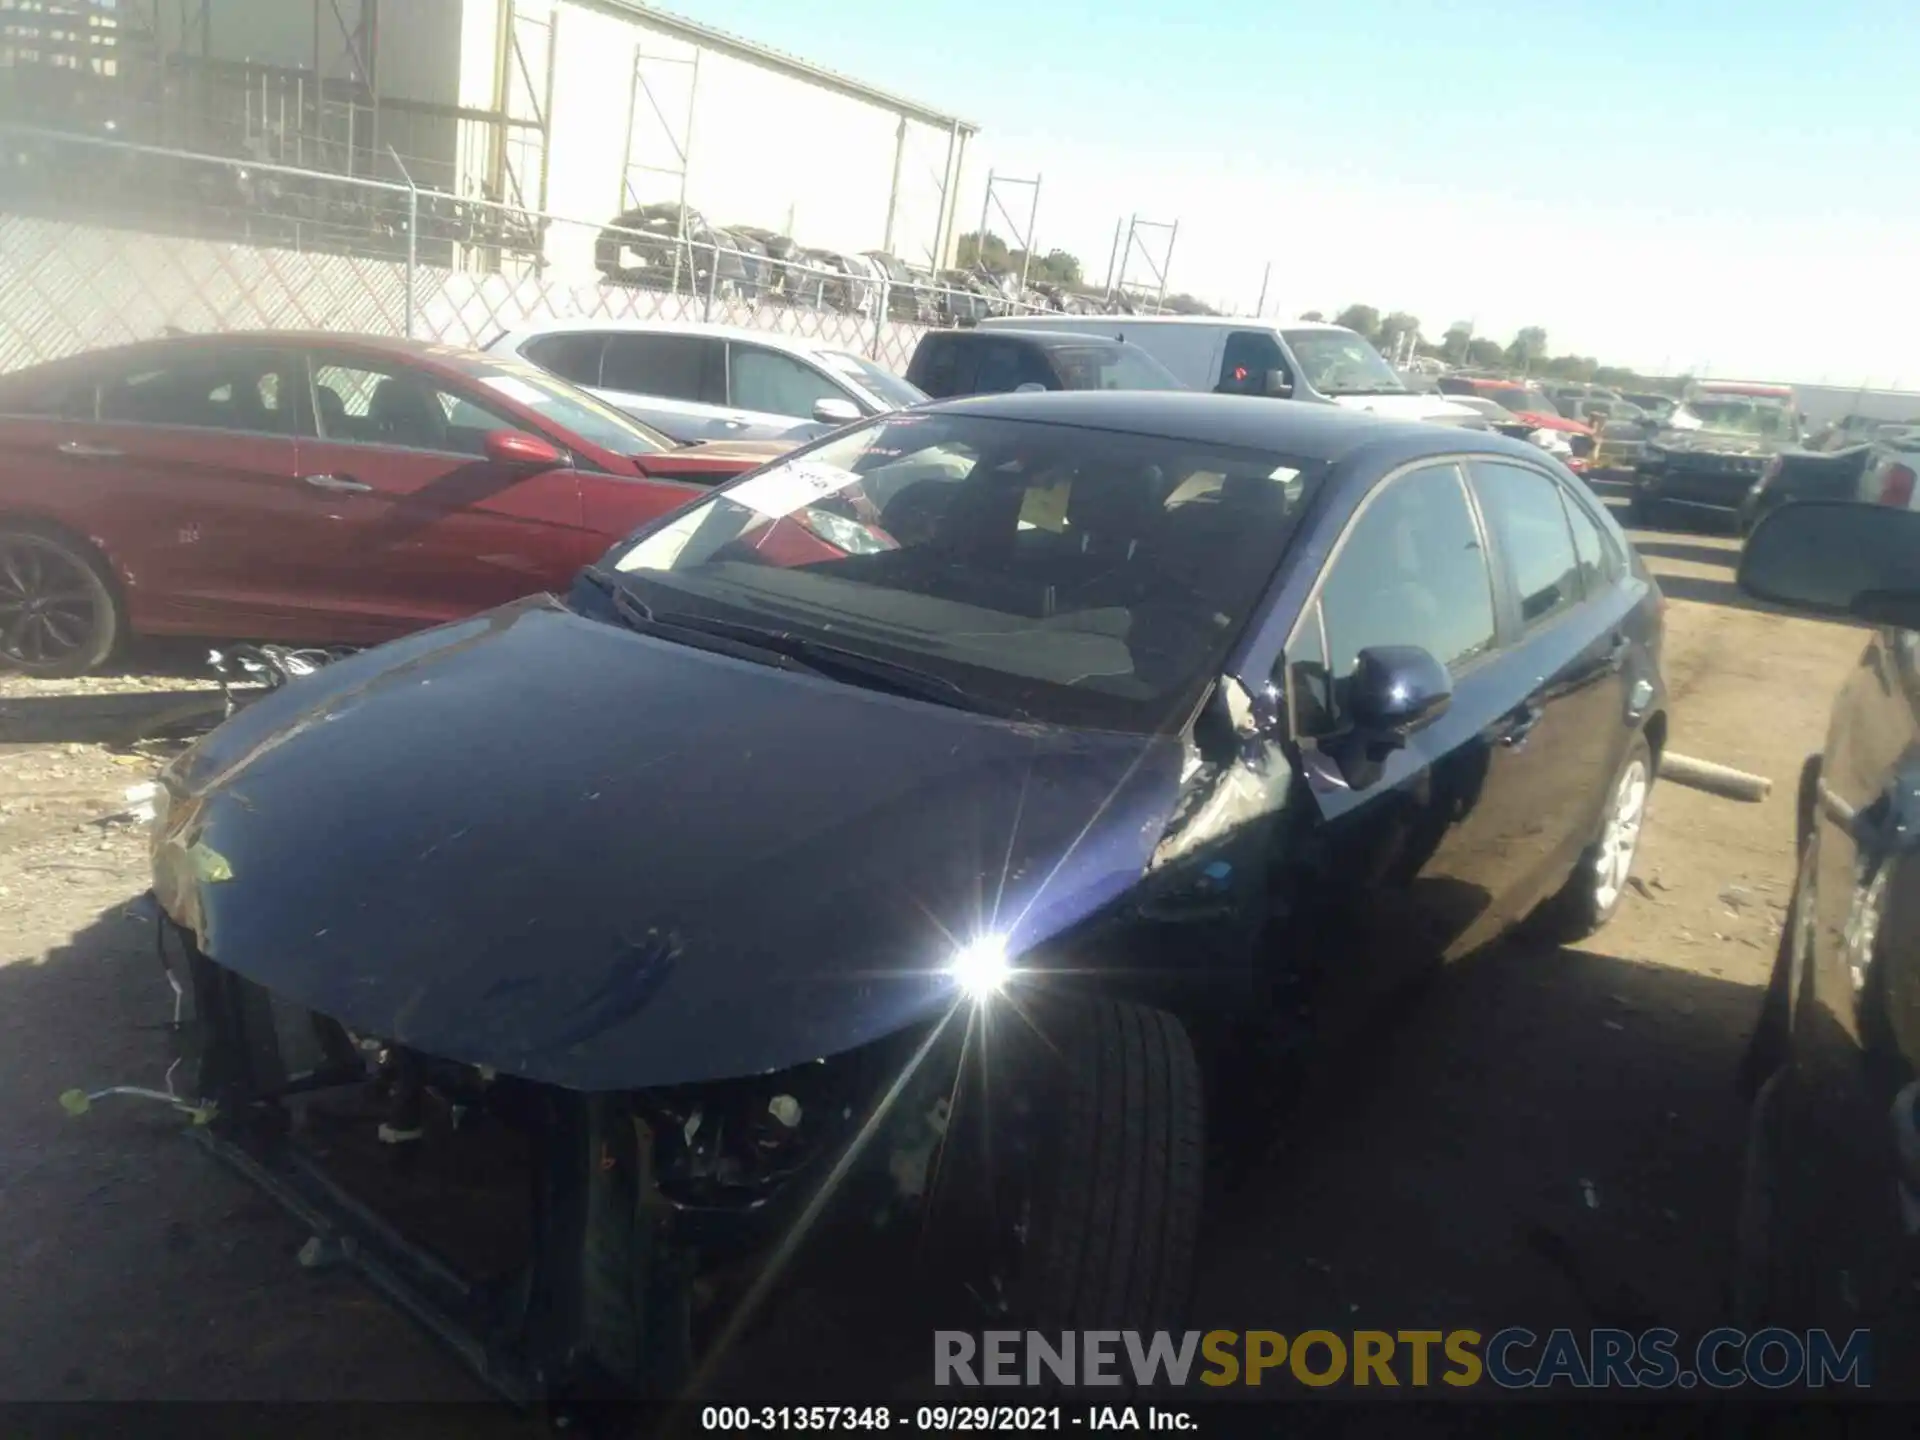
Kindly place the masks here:
[(127, 620), (106, 559), (54, 526), (0, 526), (0, 666), (44, 680), (108, 662)]

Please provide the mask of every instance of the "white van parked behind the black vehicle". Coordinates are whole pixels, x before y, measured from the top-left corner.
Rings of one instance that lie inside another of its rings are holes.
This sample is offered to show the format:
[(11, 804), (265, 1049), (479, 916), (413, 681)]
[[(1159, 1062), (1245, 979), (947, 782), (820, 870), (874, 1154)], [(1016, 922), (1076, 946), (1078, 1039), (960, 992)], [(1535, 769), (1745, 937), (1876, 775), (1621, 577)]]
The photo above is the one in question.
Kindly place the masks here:
[(1407, 390), (1367, 338), (1342, 324), (1236, 321), (1213, 315), (1004, 315), (979, 328), (1073, 330), (1131, 340), (1181, 384), (1227, 396), (1273, 396), (1484, 430), (1486, 419), (1446, 396)]

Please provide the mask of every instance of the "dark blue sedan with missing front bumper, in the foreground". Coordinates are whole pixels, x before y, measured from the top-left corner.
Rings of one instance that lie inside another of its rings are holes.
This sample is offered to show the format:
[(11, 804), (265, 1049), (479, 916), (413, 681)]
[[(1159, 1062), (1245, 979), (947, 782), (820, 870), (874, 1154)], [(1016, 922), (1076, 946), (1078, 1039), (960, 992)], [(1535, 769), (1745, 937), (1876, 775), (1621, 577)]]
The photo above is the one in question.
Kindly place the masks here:
[(839, 1212), (1000, 1325), (1177, 1327), (1215, 1077), (1620, 904), (1659, 643), (1500, 436), (845, 428), (169, 768), (202, 1135), (518, 1398), (678, 1390)]

